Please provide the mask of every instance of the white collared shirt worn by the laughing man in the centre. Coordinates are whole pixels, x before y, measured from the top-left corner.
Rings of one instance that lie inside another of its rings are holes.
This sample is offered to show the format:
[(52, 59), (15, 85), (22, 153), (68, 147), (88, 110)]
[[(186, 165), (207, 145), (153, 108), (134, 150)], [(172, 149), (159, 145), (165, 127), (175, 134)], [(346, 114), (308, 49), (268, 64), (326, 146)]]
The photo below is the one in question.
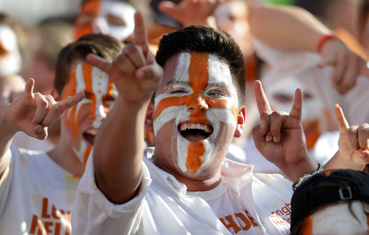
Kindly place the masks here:
[[(227, 195), (208, 203), (201, 197), (186, 195), (186, 185), (153, 163), (154, 151), (145, 150), (136, 197), (120, 205), (108, 201), (97, 188), (90, 155), (77, 188), (73, 234), (235, 234), (235, 229), (250, 234), (252, 230), (247, 228), (251, 220), (258, 225), (251, 223), (255, 232), (289, 234), (292, 183), (283, 176), (254, 175), (252, 165), (224, 159), (221, 180), (226, 190), (220, 185), (220, 191)], [(226, 197), (237, 198), (238, 202), (219, 206)], [(224, 218), (230, 230), (218, 217)]]

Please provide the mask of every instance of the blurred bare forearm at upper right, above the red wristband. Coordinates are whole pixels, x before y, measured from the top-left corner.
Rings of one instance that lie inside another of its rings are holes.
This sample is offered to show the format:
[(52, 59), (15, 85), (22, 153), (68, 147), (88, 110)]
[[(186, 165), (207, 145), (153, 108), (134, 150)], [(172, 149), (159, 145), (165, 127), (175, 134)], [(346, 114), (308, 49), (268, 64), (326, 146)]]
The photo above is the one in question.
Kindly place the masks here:
[(293, 6), (257, 8), (249, 24), (256, 38), (282, 50), (316, 51), (319, 39), (332, 33), (308, 11)]

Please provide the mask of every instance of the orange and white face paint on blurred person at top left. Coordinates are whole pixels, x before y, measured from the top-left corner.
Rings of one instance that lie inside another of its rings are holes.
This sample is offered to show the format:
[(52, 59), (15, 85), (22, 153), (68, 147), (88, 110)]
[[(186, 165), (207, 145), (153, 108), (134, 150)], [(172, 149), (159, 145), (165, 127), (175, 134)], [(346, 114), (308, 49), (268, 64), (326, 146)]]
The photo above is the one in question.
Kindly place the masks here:
[(77, 17), (75, 38), (101, 33), (124, 41), (134, 31), (135, 8), (124, 1), (90, 0)]

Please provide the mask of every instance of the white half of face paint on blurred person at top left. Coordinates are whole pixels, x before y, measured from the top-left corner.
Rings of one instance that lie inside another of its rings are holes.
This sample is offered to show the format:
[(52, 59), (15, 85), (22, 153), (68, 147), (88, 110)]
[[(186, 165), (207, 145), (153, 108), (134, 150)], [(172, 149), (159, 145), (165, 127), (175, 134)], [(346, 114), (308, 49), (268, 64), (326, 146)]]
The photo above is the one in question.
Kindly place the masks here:
[(93, 22), (93, 32), (101, 32), (124, 41), (134, 31), (135, 12), (135, 8), (124, 1), (103, 0), (100, 3), (99, 15)]

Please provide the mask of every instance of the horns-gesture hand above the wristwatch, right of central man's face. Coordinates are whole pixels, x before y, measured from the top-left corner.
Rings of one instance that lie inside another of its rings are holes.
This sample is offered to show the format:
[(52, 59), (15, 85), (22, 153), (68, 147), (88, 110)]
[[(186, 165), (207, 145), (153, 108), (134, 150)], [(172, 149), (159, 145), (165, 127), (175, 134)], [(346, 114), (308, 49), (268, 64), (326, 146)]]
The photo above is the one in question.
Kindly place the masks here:
[(297, 89), (290, 113), (272, 111), (260, 81), (254, 83), (255, 98), (261, 122), (252, 130), (255, 146), (290, 180), (313, 172), (318, 164), (309, 155), (301, 124), (302, 92)]

